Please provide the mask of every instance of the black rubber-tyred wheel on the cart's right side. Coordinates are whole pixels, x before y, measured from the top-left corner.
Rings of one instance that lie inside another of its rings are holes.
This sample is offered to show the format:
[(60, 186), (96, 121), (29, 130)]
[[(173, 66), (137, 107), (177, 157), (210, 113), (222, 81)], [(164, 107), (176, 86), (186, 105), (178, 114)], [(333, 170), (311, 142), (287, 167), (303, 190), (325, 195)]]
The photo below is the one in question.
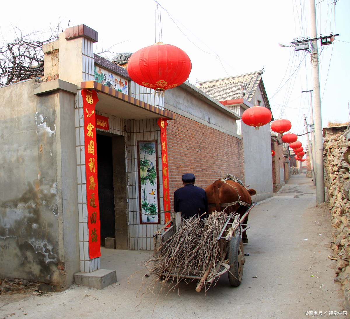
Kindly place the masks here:
[(242, 282), (243, 265), (245, 263), (243, 242), (240, 236), (231, 238), (228, 259), (230, 265), (230, 269), (227, 272), (229, 274), (229, 281), (231, 286), (237, 287)]

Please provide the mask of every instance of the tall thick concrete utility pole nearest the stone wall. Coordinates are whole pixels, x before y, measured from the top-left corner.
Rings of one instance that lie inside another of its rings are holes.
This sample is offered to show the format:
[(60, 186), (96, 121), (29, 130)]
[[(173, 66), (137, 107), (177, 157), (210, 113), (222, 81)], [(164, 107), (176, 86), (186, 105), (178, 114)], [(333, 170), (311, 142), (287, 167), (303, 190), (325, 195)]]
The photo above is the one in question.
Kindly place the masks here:
[(322, 116), (321, 116), (321, 94), (320, 75), (318, 73), (318, 50), (317, 50), (317, 28), (316, 28), (316, 4), (310, 0), (311, 16), (311, 64), (312, 79), (314, 86), (314, 110), (315, 110), (315, 163), (316, 163), (316, 204), (324, 202), (324, 168), (323, 168), (323, 139), (322, 139)]

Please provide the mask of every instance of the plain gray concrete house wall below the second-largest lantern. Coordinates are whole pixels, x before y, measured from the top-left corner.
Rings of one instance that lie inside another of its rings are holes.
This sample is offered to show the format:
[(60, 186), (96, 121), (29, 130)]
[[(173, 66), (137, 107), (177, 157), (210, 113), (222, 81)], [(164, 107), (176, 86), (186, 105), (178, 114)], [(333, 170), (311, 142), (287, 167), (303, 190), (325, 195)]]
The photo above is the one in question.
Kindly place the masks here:
[(257, 191), (252, 200), (259, 202), (273, 196), (270, 125), (260, 126), (256, 131), (243, 122), (241, 124), (245, 184)]

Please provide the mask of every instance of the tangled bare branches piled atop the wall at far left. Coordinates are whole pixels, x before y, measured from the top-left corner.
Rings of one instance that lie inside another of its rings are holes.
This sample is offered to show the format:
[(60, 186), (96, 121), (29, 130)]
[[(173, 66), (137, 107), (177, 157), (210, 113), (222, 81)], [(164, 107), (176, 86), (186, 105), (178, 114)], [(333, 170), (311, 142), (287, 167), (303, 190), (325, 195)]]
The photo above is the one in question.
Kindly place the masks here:
[(14, 28), (15, 39), (0, 47), (0, 86), (44, 75), (44, 54), (42, 46), (58, 39), (62, 28), (51, 28), (47, 39), (37, 39), (36, 32), (22, 35)]

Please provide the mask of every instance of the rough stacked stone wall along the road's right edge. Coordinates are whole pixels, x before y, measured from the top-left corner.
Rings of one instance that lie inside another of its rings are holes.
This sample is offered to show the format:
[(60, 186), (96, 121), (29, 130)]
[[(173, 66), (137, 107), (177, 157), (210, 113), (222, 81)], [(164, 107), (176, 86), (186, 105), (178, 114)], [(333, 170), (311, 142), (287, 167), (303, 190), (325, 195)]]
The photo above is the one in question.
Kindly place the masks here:
[(325, 170), (332, 214), (333, 241), (331, 248), (337, 258), (336, 276), (344, 290), (345, 303), (350, 309), (350, 127), (343, 134), (324, 142)]

